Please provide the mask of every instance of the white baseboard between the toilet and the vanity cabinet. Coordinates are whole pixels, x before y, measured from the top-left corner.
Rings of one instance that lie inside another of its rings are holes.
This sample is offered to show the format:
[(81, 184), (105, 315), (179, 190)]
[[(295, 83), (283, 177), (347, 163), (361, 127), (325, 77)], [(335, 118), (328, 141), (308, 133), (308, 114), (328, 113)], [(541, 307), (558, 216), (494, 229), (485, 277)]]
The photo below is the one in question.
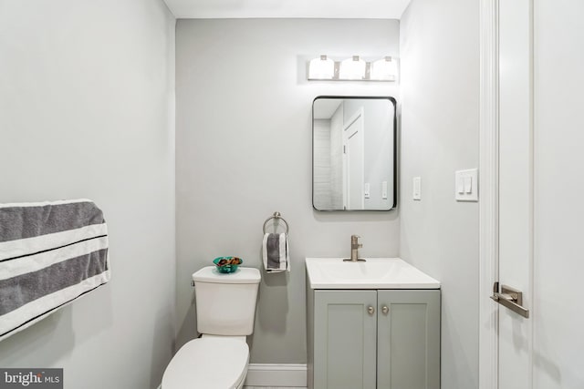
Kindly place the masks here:
[(305, 363), (249, 363), (246, 386), (306, 387)]

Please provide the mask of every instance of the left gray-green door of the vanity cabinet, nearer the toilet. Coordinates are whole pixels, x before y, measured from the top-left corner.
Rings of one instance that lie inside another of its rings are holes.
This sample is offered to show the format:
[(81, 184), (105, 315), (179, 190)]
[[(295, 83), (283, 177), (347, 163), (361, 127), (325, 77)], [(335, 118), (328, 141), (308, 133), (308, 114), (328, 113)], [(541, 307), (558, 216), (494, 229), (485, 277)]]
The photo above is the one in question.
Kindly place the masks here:
[(314, 302), (314, 388), (375, 389), (377, 291), (316, 291)]

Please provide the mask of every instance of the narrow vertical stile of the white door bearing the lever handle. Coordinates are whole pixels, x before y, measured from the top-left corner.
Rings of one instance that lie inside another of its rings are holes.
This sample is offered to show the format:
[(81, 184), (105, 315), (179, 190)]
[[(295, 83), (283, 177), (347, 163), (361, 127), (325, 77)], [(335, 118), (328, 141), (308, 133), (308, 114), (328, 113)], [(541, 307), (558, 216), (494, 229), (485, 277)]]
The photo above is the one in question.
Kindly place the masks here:
[[(533, 305), (531, 0), (499, 1), (499, 287)], [(503, 292), (503, 291), (500, 291)], [(509, 294), (509, 293), (506, 293)], [(499, 308), (499, 388), (531, 388), (533, 319)]]

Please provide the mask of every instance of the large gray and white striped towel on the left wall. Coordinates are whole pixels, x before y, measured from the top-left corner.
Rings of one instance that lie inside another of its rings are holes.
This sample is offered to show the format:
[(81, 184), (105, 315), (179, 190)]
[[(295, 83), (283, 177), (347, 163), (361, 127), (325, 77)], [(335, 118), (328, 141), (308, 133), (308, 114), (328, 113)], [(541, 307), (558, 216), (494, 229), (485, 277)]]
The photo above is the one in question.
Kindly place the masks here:
[(0, 204), (0, 341), (110, 281), (91, 200)]

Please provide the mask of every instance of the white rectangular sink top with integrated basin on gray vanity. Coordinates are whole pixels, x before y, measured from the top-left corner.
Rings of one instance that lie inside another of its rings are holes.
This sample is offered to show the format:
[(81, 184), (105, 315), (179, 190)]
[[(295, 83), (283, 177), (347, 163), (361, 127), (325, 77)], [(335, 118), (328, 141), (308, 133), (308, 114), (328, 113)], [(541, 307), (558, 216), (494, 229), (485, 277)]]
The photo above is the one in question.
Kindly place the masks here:
[(307, 258), (312, 289), (440, 289), (440, 282), (400, 258)]

